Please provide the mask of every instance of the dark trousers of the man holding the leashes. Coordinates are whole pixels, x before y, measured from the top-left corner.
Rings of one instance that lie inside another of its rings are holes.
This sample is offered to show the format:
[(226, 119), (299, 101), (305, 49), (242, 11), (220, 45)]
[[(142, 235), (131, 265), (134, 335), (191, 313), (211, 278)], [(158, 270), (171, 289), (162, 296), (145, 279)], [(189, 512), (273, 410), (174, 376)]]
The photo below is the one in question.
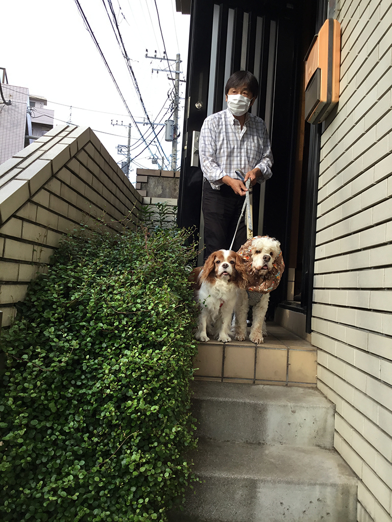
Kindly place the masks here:
[[(224, 248), (228, 250), (233, 241), (238, 218), (241, 214), (245, 196), (238, 196), (228, 185), (214, 190), (204, 179), (203, 183), (203, 217), (204, 243), (206, 259), (212, 252)], [(245, 212), (239, 223), (232, 250), (237, 252), (246, 243)]]

